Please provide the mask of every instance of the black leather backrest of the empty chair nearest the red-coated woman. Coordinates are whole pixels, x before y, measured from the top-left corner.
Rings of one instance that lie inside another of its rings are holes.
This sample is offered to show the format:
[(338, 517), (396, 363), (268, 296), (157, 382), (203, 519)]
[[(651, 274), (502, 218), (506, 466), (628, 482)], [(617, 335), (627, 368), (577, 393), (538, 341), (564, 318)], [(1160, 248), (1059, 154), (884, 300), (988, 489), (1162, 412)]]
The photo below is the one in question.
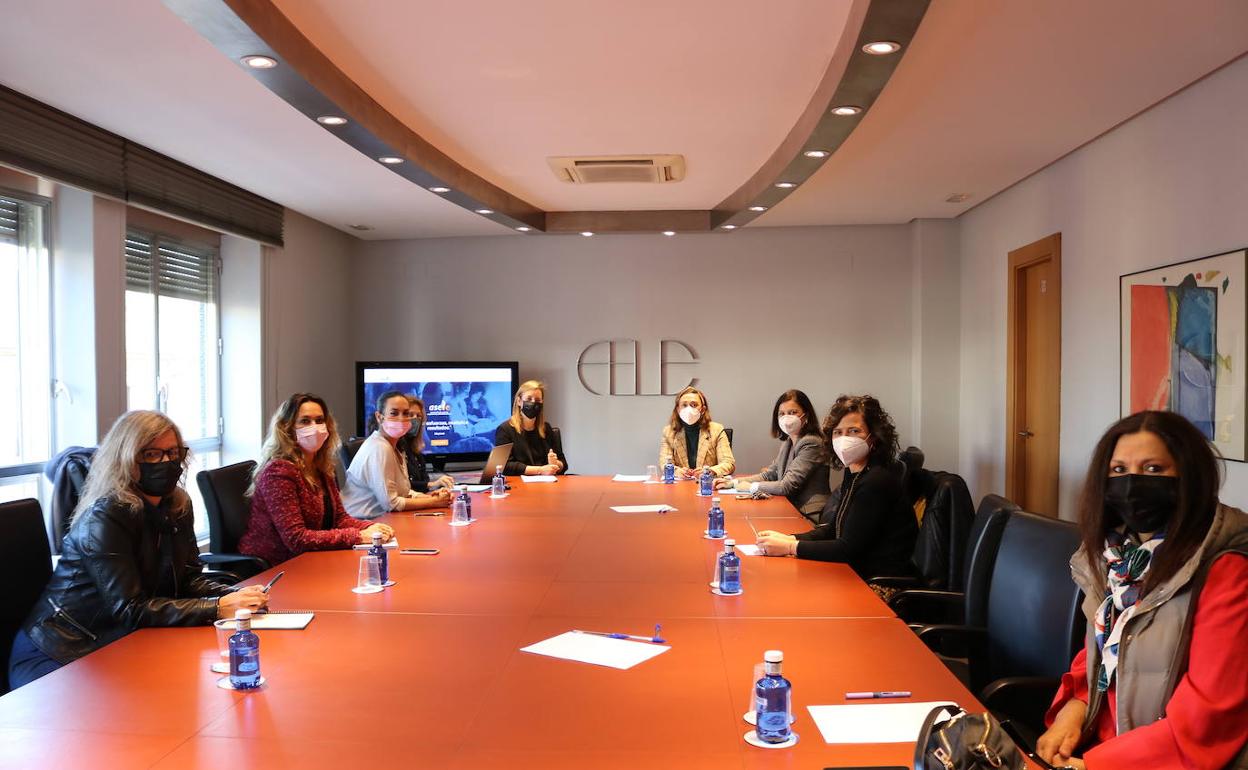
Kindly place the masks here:
[(1070, 670), (1083, 643), (1082, 592), (1070, 568), (1078, 547), (1078, 527), (1070, 522), (1011, 514), (988, 590), (987, 659), (971, 669), (975, 691), (1003, 676)]

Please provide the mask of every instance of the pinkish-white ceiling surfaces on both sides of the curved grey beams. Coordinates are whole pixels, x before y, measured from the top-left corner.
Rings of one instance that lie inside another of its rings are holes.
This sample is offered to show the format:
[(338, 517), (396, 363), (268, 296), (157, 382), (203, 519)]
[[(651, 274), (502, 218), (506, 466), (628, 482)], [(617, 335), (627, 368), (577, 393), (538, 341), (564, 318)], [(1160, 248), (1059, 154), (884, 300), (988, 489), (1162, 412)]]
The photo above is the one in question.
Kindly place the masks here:
[[(363, 237), (509, 232), (339, 142), (158, 0), (5, 2), (4, 85)], [(280, 5), (477, 173), (552, 210), (645, 210), (708, 207), (761, 165), (850, 0)], [(860, 127), (751, 226), (956, 216), (1242, 55), (1244, 30), (1242, 0), (934, 0)], [(680, 152), (689, 177), (555, 181), (545, 156), (582, 152)]]

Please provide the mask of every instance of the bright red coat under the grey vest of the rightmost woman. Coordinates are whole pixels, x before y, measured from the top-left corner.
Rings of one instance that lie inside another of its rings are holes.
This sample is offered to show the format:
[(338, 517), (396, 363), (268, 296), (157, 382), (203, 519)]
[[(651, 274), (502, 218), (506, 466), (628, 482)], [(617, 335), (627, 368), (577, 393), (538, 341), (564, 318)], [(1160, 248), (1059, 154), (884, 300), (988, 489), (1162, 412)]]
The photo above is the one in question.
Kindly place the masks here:
[[(1187, 674), (1166, 704), (1166, 718), (1118, 735), (1114, 685), (1094, 725), (1096, 744), (1083, 754), (1088, 770), (1118, 768), (1224, 768), (1248, 739), (1248, 558), (1219, 557), (1209, 568), (1192, 619)], [(1087, 650), (1080, 650), (1048, 711), (1071, 699), (1088, 700)]]

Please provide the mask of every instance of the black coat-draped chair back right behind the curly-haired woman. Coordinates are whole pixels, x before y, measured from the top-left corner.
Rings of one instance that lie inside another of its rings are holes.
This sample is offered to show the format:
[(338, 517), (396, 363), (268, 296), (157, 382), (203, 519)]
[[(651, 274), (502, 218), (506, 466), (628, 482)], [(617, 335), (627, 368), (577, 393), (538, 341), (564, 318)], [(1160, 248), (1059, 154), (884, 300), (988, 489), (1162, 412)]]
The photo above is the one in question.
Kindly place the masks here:
[(911, 559), (927, 588), (961, 590), (966, 538), (973, 518), (971, 492), (956, 473), (915, 469), (927, 477), (924, 519)]

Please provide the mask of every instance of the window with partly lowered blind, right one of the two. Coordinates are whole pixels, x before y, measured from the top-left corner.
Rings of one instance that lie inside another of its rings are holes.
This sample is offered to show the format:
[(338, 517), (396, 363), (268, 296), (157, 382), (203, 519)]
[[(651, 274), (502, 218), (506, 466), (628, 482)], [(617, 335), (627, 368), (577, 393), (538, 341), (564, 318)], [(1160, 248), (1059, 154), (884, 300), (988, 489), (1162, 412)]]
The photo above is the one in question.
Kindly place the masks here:
[(168, 414), (191, 447), (186, 489), (195, 530), (207, 519), (195, 474), (221, 463), (221, 323), (217, 250), (126, 231), (126, 396)]

